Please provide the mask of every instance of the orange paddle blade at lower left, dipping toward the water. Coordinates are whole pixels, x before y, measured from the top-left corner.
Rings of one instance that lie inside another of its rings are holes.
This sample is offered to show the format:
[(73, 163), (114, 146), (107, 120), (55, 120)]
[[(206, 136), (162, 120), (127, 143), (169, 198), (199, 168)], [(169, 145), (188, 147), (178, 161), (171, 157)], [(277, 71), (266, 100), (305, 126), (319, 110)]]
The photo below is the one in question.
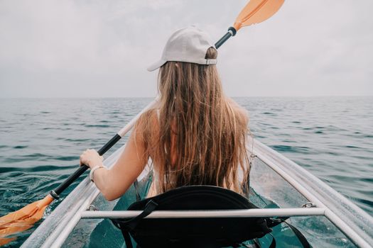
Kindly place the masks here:
[(0, 245), (11, 242), (15, 237), (6, 237), (16, 232), (27, 230), (43, 217), (45, 208), (53, 202), (53, 197), (48, 195), (43, 200), (26, 205), (0, 218)]

